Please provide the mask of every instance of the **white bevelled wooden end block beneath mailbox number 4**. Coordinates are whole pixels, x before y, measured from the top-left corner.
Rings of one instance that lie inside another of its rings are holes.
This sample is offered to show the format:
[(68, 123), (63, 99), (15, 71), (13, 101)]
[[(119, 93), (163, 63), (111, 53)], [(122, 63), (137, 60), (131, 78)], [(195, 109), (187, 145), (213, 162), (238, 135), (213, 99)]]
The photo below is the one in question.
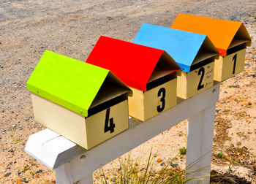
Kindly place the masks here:
[(25, 151), (48, 168), (55, 169), (83, 153), (85, 149), (55, 131), (45, 129), (29, 137)]

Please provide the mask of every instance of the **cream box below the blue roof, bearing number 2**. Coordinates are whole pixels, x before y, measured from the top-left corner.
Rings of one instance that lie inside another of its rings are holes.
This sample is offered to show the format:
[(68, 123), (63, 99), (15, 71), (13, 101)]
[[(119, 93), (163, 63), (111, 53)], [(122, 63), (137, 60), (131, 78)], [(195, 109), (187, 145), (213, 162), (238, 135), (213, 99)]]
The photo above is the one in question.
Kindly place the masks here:
[(177, 78), (177, 96), (182, 99), (189, 99), (214, 85), (214, 62), (189, 73), (181, 72)]

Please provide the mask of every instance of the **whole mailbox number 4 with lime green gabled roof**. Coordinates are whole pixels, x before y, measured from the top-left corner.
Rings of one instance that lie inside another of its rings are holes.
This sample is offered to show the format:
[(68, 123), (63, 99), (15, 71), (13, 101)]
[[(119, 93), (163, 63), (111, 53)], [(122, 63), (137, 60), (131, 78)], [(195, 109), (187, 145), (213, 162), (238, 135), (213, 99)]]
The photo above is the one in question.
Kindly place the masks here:
[(129, 88), (107, 69), (48, 50), (27, 82), (34, 119), (90, 149), (129, 128)]

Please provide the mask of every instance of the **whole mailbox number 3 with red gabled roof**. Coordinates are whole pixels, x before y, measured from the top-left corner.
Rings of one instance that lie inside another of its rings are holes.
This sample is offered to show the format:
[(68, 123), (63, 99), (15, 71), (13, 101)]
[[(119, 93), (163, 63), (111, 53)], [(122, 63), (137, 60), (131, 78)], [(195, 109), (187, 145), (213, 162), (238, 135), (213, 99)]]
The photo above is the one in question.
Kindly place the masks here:
[(133, 91), (129, 115), (147, 120), (177, 104), (178, 64), (164, 50), (99, 37), (86, 61), (116, 74)]

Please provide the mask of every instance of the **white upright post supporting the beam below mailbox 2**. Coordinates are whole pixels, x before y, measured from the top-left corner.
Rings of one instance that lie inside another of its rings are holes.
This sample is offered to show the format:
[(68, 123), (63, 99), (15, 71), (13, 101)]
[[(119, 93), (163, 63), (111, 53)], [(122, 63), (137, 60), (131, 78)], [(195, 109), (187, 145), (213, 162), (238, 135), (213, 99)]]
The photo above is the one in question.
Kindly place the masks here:
[(189, 118), (186, 161), (187, 177), (188, 179), (197, 177), (197, 180), (191, 180), (189, 183), (198, 183), (198, 180), (200, 183), (210, 182), (214, 116), (215, 105), (212, 105)]

